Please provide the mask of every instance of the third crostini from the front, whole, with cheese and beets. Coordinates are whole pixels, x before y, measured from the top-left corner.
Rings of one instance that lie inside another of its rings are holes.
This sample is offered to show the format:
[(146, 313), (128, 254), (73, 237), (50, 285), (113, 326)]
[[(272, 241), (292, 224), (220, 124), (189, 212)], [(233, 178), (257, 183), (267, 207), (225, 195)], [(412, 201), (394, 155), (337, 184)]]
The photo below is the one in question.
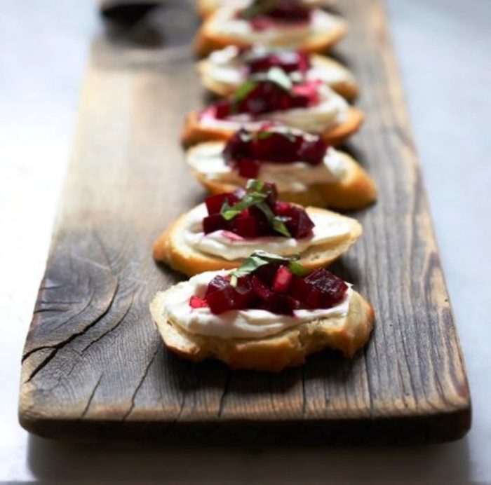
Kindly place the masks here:
[(301, 205), (356, 210), (377, 199), (375, 182), (351, 156), (318, 135), (283, 126), (241, 129), (228, 142), (198, 144), (186, 160), (211, 193), (258, 178), (276, 184), (282, 200)]

